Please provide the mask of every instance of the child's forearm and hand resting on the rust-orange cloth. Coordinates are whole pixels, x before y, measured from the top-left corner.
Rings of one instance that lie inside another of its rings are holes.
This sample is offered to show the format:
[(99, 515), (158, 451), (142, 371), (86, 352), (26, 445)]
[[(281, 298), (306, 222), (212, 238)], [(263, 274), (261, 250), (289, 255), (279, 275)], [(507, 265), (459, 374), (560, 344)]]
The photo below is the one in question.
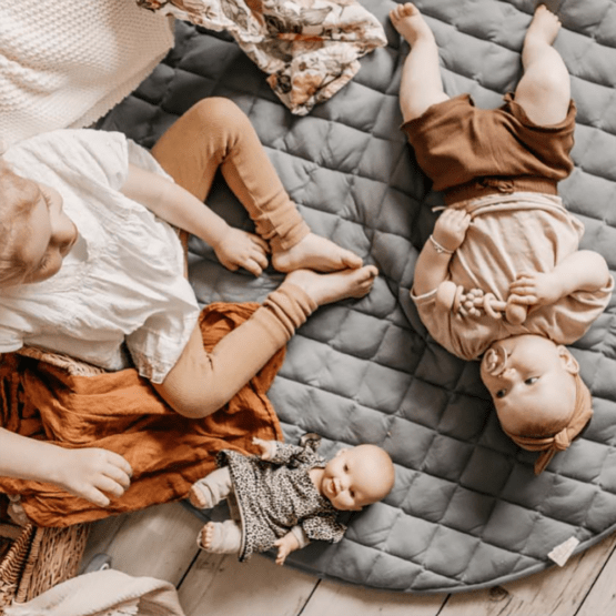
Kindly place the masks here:
[(48, 482), (105, 507), (103, 493), (122, 496), (132, 469), (119, 454), (100, 448), (67, 450), (0, 428), (0, 475)]

